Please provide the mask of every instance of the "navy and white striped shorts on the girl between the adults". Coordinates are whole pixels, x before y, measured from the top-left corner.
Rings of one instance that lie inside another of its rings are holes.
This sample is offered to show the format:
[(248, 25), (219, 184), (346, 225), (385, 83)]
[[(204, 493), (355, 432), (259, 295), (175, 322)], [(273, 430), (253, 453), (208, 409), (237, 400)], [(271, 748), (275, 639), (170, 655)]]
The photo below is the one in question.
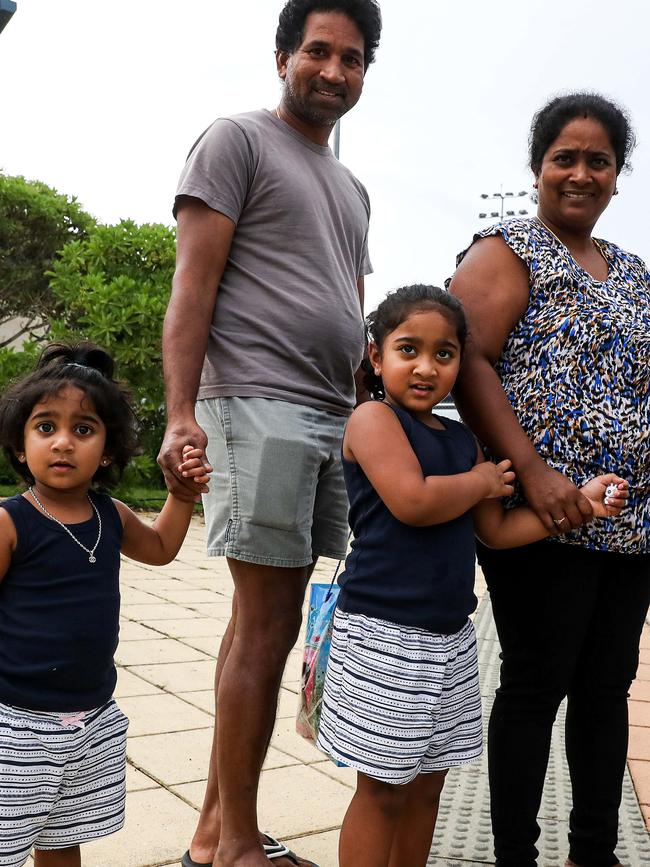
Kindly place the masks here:
[(388, 783), (483, 751), (474, 626), (453, 635), (337, 609), (317, 746)]

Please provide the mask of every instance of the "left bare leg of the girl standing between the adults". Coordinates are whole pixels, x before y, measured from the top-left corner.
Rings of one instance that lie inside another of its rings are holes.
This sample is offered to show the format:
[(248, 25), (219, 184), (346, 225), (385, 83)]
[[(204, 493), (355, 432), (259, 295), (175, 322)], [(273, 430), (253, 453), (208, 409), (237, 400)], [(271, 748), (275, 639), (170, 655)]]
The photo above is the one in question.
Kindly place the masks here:
[(407, 788), (357, 773), (357, 790), (341, 827), (339, 867), (388, 867)]

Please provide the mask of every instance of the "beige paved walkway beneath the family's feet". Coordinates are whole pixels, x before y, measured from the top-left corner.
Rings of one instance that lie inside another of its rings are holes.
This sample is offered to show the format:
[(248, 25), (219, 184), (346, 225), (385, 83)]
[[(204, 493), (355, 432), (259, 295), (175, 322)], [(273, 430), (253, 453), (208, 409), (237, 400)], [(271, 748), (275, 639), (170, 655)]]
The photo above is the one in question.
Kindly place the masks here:
[[(195, 520), (179, 557), (169, 566), (124, 561), (116, 696), (131, 719), (127, 821), (119, 834), (84, 846), (85, 867), (178, 865), (191, 837), (207, 776), (215, 660), (232, 596), (225, 561), (208, 560), (203, 539), (203, 527)], [(332, 561), (319, 563), (315, 579), (329, 580), (333, 565)], [(482, 596), (480, 576), (477, 585)], [(489, 610), (485, 606), (483, 610), (487, 617), (481, 613), (479, 620), (489, 624)], [(488, 627), (479, 631), (484, 628)], [(492, 660), (485, 670), (494, 677), (498, 648), (493, 637), (484, 637), (482, 655), (491, 654)], [(630, 767), (650, 821), (648, 633), (643, 652), (631, 704)], [(336, 867), (338, 829), (354, 774), (334, 767), (294, 731), (300, 665), (300, 650), (295, 649), (282, 682), (278, 722), (262, 773), (260, 822), (320, 867)], [(551, 787), (561, 773), (554, 765)], [(487, 804), (477, 783), (483, 776), (477, 765), (468, 769), (465, 778), (449, 780), (432, 865), (469, 867), (491, 862)], [(635, 839), (647, 842), (638, 809), (633, 832)], [(462, 840), (472, 842), (471, 858), (464, 854)], [(563, 840), (557, 852), (557, 860), (540, 862), (540, 867), (563, 864)], [(626, 861), (626, 867), (646, 863), (650, 864), (650, 856), (647, 862), (645, 856)]]

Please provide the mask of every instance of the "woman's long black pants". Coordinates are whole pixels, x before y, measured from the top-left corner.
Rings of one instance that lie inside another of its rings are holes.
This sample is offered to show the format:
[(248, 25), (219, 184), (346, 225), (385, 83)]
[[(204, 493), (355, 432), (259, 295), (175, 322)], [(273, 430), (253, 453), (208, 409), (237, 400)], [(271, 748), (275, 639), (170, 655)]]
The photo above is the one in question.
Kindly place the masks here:
[(551, 541), (509, 551), (480, 546), (479, 562), (501, 642), (488, 730), (496, 864), (535, 867), (551, 730), (568, 696), (569, 857), (580, 867), (611, 867), (650, 555)]

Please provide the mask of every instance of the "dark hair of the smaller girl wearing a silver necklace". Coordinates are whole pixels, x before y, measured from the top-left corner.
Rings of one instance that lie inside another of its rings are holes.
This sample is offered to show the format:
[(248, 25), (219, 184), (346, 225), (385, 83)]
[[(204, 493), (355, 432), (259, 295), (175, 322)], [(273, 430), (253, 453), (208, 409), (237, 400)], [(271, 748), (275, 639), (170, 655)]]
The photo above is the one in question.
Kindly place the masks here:
[(113, 367), (110, 355), (93, 343), (51, 343), (41, 353), (36, 368), (2, 395), (0, 446), (14, 470), (29, 484), (34, 477), (27, 463), (17, 457), (24, 451), (25, 424), (37, 403), (66, 386), (86, 393), (106, 427), (104, 451), (111, 463), (97, 468), (93, 483), (109, 488), (119, 482), (129, 460), (138, 453), (138, 425), (131, 395), (123, 383), (113, 379)]

